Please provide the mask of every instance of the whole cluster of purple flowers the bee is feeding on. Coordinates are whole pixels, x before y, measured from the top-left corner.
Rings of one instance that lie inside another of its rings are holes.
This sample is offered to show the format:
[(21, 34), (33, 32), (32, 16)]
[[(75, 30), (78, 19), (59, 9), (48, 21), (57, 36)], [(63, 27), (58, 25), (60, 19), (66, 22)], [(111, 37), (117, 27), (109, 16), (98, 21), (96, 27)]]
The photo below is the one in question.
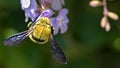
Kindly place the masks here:
[[(44, 8), (46, 3), (51, 3), (51, 8), (54, 10), (60, 10), (58, 12), (57, 17), (52, 17), (53, 10), (50, 8), (45, 8), (41, 13), (37, 13), (37, 3), (36, 0), (21, 0), (21, 8), (25, 12), (25, 22), (30, 18), (32, 21), (38, 21), (42, 16), (48, 17), (51, 19), (51, 26), (54, 27), (54, 34), (57, 34), (60, 30), (61, 33), (65, 33), (68, 29), (68, 10), (66, 8), (62, 8), (62, 4), (64, 4), (64, 0), (40, 0), (41, 5)], [(37, 20), (36, 20), (37, 18)]]

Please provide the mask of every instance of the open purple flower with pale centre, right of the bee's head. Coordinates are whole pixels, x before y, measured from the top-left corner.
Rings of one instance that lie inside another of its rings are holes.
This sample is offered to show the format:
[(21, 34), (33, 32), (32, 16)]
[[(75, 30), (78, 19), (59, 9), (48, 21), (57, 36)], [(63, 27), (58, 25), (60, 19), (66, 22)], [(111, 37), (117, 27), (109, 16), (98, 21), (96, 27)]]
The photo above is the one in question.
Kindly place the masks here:
[(61, 33), (65, 33), (67, 31), (67, 24), (69, 23), (67, 14), (68, 10), (64, 8), (59, 11), (57, 17), (51, 18), (51, 25), (54, 27), (54, 34), (57, 34), (59, 30)]

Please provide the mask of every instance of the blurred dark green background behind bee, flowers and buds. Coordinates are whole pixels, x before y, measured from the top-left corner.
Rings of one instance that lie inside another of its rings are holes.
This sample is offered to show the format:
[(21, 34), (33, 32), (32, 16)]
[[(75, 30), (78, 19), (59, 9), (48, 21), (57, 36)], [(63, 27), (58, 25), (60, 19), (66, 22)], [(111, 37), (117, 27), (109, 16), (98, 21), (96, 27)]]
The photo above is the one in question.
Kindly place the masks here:
[[(111, 31), (100, 27), (103, 7), (92, 8), (90, 0), (65, 0), (69, 29), (55, 36), (68, 64), (51, 58), (49, 42), (4, 46), (10, 35), (27, 30), (19, 0), (0, 0), (0, 68), (120, 68), (120, 20), (109, 19)], [(109, 0), (108, 9), (120, 16), (120, 1)]]

